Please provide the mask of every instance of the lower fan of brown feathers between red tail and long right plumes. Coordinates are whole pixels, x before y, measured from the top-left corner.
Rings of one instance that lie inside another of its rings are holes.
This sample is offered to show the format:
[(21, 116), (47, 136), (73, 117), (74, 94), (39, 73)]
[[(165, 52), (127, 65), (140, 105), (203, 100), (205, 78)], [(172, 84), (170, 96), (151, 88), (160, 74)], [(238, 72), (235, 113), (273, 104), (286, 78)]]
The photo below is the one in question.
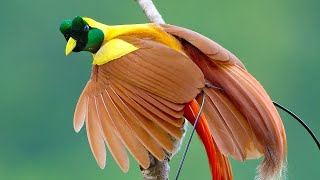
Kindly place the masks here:
[(260, 157), (261, 145), (245, 117), (220, 90), (205, 88), (204, 92), (208, 96), (204, 114), (221, 152), (241, 161)]

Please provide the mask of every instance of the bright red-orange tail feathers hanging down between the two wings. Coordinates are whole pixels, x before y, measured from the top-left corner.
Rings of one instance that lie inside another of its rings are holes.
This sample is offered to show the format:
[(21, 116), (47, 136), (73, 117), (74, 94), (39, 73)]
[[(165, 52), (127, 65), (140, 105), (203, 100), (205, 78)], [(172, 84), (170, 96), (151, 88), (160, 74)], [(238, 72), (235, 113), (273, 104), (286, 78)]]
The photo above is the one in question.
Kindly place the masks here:
[[(184, 117), (194, 125), (196, 117), (200, 111), (200, 106), (196, 100), (192, 100), (185, 106)], [(212, 179), (230, 180), (232, 179), (232, 171), (229, 160), (221, 154), (217, 145), (212, 139), (207, 120), (203, 114), (200, 115), (196, 131), (200, 137), (209, 160)]]

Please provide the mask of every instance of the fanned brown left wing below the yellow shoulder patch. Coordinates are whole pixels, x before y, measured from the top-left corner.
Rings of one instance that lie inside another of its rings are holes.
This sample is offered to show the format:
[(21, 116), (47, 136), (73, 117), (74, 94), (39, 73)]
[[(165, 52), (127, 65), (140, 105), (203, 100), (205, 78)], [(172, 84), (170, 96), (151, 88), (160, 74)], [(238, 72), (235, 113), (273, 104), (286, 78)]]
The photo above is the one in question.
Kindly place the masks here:
[[(183, 108), (204, 86), (200, 69), (184, 54), (152, 40), (121, 38), (135, 47), (118, 59), (94, 65), (74, 115), (78, 132), (86, 123), (88, 140), (99, 166), (107, 145), (126, 172), (126, 148), (143, 167), (148, 151), (163, 160), (173, 152), (172, 137), (182, 137)], [(104, 48), (101, 48), (104, 49)]]

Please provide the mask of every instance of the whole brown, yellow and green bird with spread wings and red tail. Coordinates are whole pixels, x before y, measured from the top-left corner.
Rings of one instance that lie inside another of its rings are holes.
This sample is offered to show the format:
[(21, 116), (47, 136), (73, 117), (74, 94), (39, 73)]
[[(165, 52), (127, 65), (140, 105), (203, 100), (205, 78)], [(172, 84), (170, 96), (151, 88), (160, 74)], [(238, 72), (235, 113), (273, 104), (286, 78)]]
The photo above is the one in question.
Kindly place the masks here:
[[(93, 156), (106, 164), (106, 146), (123, 172), (130, 152), (144, 169), (175, 151), (185, 119), (195, 123), (212, 179), (233, 179), (229, 156), (264, 156), (260, 179), (286, 167), (287, 140), (279, 113), (262, 85), (231, 52), (213, 40), (170, 24), (106, 25), (88, 17), (64, 20), (65, 53), (92, 54), (92, 72), (74, 112), (86, 124)], [(204, 95), (206, 98), (204, 99)]]

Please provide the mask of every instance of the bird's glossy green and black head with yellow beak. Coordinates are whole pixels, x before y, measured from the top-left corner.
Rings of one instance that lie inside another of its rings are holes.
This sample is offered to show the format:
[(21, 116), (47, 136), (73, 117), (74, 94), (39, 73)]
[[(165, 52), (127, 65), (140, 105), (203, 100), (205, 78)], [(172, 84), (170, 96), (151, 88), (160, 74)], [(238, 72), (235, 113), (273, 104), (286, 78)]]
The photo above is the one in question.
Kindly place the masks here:
[(71, 51), (89, 51), (96, 53), (104, 40), (104, 33), (93, 24), (95, 21), (89, 18), (76, 16), (73, 20), (64, 20), (60, 25), (60, 31), (67, 40), (66, 55)]

